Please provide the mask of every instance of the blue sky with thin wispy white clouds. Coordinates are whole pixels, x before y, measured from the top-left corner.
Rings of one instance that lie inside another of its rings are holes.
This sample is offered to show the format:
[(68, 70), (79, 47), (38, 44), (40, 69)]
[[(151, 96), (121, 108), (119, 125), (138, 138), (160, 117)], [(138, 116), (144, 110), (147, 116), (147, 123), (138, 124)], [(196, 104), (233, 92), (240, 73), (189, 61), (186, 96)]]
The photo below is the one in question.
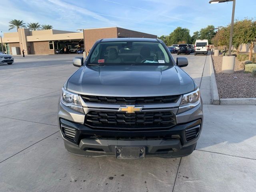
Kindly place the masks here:
[[(12, 19), (50, 24), (57, 30), (118, 26), (157, 36), (176, 27), (190, 34), (208, 25), (231, 22), (232, 2), (209, 0), (1, 0), (0, 31)], [(256, 18), (256, 0), (236, 0), (236, 19)], [(10, 30), (15, 32), (16, 29)], [(2, 34), (2, 33), (1, 33)]]

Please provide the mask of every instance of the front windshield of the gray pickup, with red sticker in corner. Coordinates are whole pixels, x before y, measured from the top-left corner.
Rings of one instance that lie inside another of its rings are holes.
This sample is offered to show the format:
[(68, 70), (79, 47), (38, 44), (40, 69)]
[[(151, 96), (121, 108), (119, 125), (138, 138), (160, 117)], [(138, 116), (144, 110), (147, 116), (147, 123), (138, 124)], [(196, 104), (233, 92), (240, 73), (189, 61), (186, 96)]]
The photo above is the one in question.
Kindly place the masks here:
[[(147, 64), (146, 64), (147, 63)], [(164, 65), (172, 64), (167, 51), (158, 42), (101, 42), (88, 65)]]

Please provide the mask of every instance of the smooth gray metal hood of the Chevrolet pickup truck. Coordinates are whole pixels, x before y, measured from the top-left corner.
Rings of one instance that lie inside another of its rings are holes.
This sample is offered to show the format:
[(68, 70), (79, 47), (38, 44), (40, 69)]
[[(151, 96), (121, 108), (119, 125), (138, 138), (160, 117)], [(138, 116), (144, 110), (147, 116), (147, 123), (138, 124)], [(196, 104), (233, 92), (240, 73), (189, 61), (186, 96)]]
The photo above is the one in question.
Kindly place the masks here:
[(167, 96), (195, 90), (177, 66), (82, 66), (68, 80), (70, 92), (96, 96)]

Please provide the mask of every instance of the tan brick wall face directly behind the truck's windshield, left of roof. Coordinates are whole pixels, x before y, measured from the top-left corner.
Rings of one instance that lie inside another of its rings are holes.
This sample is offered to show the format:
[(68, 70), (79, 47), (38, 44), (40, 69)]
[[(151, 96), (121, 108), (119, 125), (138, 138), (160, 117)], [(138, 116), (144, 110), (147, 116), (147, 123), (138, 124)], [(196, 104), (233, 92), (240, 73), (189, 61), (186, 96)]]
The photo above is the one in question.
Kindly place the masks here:
[(117, 38), (117, 28), (98, 28), (98, 29), (85, 29), (85, 51), (88, 52), (98, 39), (102, 38)]

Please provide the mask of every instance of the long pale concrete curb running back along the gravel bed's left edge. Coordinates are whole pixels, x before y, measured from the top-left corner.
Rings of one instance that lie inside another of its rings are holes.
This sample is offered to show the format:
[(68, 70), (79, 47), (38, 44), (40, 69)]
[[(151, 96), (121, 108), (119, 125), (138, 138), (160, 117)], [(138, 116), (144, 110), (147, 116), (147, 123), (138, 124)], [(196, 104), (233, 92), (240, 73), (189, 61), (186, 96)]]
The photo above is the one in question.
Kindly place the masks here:
[(212, 64), (211, 52), (210, 52), (210, 76), (211, 76), (212, 104), (220, 105), (220, 98), (218, 94), (218, 88), (217, 88), (216, 78), (215, 78), (213, 64)]

